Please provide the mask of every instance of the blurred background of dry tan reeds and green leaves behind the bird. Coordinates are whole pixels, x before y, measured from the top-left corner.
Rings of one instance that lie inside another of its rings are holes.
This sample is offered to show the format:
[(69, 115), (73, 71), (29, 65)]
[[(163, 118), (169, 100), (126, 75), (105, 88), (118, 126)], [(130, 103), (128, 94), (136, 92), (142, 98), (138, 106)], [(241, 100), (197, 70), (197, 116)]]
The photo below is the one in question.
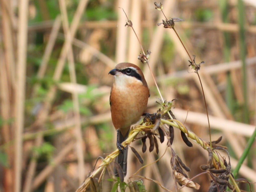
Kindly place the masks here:
[[(212, 138), (223, 136), (231, 166), (236, 166), (256, 122), (256, 3), (249, 0), (165, 0), (167, 18), (185, 21), (175, 29), (196, 63), (205, 89)], [(75, 191), (92, 171), (98, 156), (115, 150), (108, 71), (119, 62), (140, 66), (150, 86), (148, 112), (159, 97), (151, 74), (137, 56), (140, 46), (152, 54), (150, 66), (164, 99), (177, 98), (174, 115), (209, 141), (200, 84), (188, 56), (171, 29), (157, 26), (164, 16), (151, 0), (0, 0), (0, 191)], [(179, 133), (179, 132), (178, 132)], [(176, 134), (176, 133), (175, 133)], [(166, 143), (159, 147), (159, 156)], [(141, 143), (132, 144), (141, 153)], [(176, 134), (172, 147), (201, 173), (208, 153), (188, 148)], [(175, 191), (170, 152), (140, 174)], [(240, 176), (256, 181), (256, 145)], [(143, 154), (144, 164), (159, 157)], [(99, 164), (99, 162), (98, 162)], [(127, 178), (140, 164), (129, 155)], [(126, 178), (126, 179), (127, 179)], [(207, 191), (208, 176), (199, 176), (197, 191)], [(148, 191), (164, 191), (143, 180)], [(113, 185), (104, 182), (103, 191)], [(249, 190), (248, 184), (240, 184)], [(254, 187), (255, 190), (255, 187)], [(183, 188), (180, 191), (193, 191)]]

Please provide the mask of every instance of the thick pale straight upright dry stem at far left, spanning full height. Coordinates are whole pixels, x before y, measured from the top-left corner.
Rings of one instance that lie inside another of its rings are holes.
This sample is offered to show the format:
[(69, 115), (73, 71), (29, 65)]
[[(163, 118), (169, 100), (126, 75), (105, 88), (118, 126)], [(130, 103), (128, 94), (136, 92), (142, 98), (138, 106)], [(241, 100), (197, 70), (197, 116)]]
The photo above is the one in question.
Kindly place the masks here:
[(17, 50), (17, 79), (15, 93), (15, 192), (21, 188), (22, 172), (22, 134), (24, 129), (24, 104), (27, 59), (27, 22), (28, 0), (19, 2), (18, 50)]

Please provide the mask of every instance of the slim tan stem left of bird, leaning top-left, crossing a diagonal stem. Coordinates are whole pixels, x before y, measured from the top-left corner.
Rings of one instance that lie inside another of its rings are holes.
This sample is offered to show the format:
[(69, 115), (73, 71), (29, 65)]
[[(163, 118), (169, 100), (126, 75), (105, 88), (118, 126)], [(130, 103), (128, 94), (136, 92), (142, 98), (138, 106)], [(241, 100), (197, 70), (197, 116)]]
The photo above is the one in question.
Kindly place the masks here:
[[(70, 31), (68, 27), (68, 15), (67, 15), (67, 7), (64, 0), (59, 0), (60, 4), (60, 10), (61, 10), (61, 16), (63, 20), (63, 28), (65, 32), (66, 39), (71, 41)], [(75, 65), (74, 65), (74, 56), (73, 56), (73, 50), (72, 46), (70, 44), (69, 47), (67, 47), (67, 53), (68, 53), (68, 63), (69, 63), (69, 73), (70, 73), (70, 79), (72, 83), (77, 83), (76, 80), (76, 71), (75, 71)], [(73, 98), (73, 108), (74, 108), (74, 119), (76, 121), (75, 125), (75, 136), (76, 136), (76, 151), (78, 156), (78, 178), (79, 183), (82, 183), (84, 180), (84, 163), (83, 163), (83, 142), (82, 142), (82, 131), (81, 131), (81, 120), (80, 120), (80, 114), (79, 114), (79, 101), (78, 101), (78, 95), (77, 92), (72, 93)]]

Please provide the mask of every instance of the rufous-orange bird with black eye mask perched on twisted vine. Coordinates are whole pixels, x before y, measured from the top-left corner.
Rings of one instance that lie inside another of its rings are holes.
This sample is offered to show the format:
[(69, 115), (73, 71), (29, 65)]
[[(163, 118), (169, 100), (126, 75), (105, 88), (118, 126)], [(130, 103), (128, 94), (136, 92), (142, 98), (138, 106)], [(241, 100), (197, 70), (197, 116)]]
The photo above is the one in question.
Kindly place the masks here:
[[(114, 76), (110, 91), (110, 110), (116, 129), (116, 146), (120, 151), (115, 162), (121, 166), (126, 176), (128, 145), (124, 147), (121, 143), (127, 139), (131, 125), (138, 122), (144, 114), (150, 90), (141, 69), (132, 63), (119, 63), (109, 74)], [(114, 174), (119, 176), (116, 168)]]

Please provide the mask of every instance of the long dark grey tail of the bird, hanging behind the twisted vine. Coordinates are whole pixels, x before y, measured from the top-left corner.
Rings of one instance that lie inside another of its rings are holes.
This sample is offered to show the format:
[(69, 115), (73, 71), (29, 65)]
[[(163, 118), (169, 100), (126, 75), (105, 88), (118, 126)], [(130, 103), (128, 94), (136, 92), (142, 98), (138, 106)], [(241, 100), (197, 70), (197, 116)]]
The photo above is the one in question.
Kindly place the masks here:
[[(129, 131), (127, 131), (125, 136), (123, 136), (120, 133), (118, 136), (118, 141), (120, 143), (125, 141), (128, 138), (128, 134), (129, 134)], [(115, 158), (115, 162), (117, 162), (120, 165), (120, 167), (122, 168), (124, 176), (127, 173), (127, 157), (128, 157), (128, 145), (123, 149), (123, 154), (119, 153), (119, 155)], [(114, 167), (114, 174), (115, 174), (115, 176), (118, 177), (118, 171), (116, 170), (115, 167)]]

